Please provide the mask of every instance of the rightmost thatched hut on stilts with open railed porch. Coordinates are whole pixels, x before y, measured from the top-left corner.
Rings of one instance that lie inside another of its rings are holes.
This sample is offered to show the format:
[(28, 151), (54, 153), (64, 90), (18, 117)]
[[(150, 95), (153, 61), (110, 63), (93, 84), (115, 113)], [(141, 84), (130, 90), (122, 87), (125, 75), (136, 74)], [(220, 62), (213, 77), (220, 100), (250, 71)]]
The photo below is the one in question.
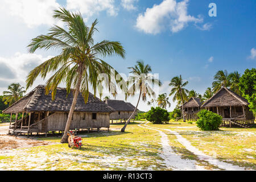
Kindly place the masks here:
[(222, 125), (246, 127), (254, 124), (254, 115), (247, 100), (226, 87), (222, 87), (201, 106), (222, 116)]

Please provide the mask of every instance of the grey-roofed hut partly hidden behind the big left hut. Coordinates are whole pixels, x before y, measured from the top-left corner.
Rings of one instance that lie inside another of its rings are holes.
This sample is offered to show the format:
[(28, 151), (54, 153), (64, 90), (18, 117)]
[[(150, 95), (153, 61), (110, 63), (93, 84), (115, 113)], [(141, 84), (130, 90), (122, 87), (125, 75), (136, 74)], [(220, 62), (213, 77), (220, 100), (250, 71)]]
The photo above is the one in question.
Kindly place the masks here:
[[(120, 119), (121, 122), (122, 119), (126, 122), (126, 119), (130, 118), (131, 114), (133, 114), (133, 111), (135, 109), (135, 106), (133, 106), (130, 102), (125, 102), (122, 100), (106, 100), (105, 102), (115, 110), (114, 113), (111, 113), (109, 115), (110, 119), (112, 120), (112, 123), (113, 120), (118, 119)], [(135, 112), (132, 119), (135, 118), (136, 114), (137, 112)]]

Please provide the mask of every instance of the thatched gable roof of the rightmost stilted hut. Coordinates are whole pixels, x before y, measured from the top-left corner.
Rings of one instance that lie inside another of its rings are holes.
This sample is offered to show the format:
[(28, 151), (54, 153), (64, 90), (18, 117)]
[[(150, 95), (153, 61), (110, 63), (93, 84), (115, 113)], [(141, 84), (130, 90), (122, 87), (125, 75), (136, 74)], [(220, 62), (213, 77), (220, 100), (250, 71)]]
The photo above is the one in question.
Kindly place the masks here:
[(217, 107), (217, 106), (242, 106), (249, 105), (247, 100), (234, 93), (226, 87), (222, 87), (210, 97), (201, 107)]

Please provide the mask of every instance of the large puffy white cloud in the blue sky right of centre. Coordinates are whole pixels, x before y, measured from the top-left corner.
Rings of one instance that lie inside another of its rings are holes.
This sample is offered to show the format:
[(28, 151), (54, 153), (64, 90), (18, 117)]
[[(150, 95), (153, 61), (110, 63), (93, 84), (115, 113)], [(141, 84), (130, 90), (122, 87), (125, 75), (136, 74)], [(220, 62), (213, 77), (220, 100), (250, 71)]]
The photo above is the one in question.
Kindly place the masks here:
[(188, 0), (164, 0), (159, 5), (147, 8), (144, 14), (139, 14), (136, 27), (148, 34), (159, 34), (170, 28), (172, 32), (182, 30), (189, 22), (201, 23), (203, 18), (187, 14)]

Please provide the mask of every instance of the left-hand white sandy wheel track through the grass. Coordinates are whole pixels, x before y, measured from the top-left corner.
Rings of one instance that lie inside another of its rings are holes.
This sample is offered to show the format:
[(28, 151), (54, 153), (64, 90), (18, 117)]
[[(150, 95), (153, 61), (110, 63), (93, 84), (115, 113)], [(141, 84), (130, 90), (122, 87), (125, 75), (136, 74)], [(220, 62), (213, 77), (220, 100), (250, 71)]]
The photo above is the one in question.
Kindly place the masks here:
[(176, 154), (174, 150), (172, 150), (172, 147), (169, 144), (168, 136), (165, 133), (163, 133), (163, 131), (152, 129), (151, 127), (147, 127), (146, 125), (144, 125), (145, 126), (144, 127), (144, 126), (141, 126), (141, 124), (139, 124), (138, 126), (143, 127), (145, 129), (151, 129), (159, 132), (161, 136), (160, 143), (162, 145), (162, 150), (163, 150), (162, 154), (160, 154), (160, 157), (164, 159), (164, 163), (166, 163), (166, 166), (168, 168), (171, 168), (173, 170), (179, 170), (179, 171), (183, 171), (183, 170), (194, 171), (194, 170), (205, 169), (197, 165), (194, 160), (182, 159), (179, 154)]

